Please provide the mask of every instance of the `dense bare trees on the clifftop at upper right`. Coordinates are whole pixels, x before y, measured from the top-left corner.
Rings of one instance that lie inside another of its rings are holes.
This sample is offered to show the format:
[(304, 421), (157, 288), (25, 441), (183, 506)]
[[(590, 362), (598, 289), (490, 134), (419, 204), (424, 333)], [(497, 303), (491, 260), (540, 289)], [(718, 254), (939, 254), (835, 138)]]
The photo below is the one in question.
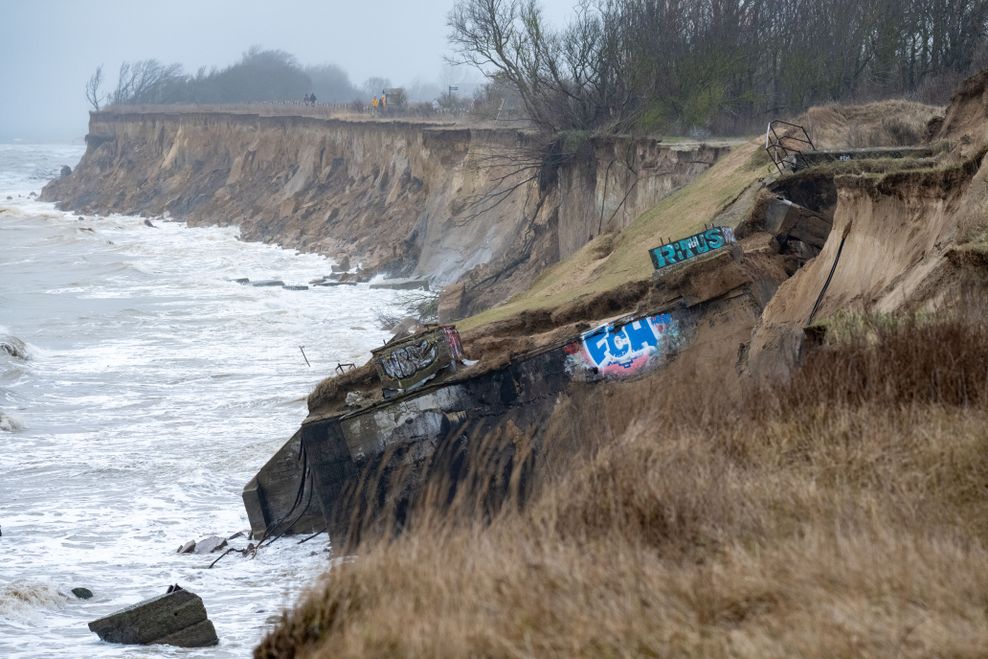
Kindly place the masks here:
[(595, 0), (562, 29), (536, 0), (458, 0), (459, 62), (546, 132), (718, 134), (813, 104), (943, 102), (988, 64), (986, 0)]

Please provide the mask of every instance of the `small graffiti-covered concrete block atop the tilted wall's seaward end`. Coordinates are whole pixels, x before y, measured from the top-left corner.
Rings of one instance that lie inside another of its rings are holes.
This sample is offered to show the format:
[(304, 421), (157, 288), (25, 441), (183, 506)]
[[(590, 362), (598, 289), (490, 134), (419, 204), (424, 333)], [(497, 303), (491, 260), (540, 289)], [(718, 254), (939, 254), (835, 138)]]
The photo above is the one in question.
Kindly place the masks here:
[(455, 367), (463, 360), (463, 348), (456, 328), (444, 325), (389, 343), (373, 355), (385, 392), (409, 391), (442, 369)]

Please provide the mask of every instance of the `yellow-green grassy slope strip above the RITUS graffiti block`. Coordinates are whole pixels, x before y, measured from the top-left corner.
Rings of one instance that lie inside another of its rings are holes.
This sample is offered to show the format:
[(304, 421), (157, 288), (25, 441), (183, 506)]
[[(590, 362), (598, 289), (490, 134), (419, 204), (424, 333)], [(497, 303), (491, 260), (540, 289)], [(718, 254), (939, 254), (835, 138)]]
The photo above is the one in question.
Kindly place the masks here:
[[(768, 173), (765, 163), (753, 158), (758, 151), (755, 142), (739, 145), (696, 181), (640, 215), (617, 236), (598, 238), (543, 273), (529, 290), (500, 307), (458, 321), (457, 325), (471, 329), (521, 311), (555, 308), (580, 295), (600, 293), (649, 277), (650, 248), (666, 238), (680, 238), (702, 229), (748, 185)], [(601, 243), (609, 240), (613, 240), (613, 251), (600, 258), (597, 255)]]

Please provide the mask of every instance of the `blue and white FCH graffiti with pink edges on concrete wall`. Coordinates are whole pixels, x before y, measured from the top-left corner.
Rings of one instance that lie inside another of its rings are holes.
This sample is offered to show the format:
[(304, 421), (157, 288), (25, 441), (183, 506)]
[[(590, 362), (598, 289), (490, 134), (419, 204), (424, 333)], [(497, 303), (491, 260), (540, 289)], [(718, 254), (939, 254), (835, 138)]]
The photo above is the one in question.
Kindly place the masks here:
[(671, 314), (603, 325), (566, 346), (571, 362), (606, 378), (641, 373), (667, 354), (679, 332)]

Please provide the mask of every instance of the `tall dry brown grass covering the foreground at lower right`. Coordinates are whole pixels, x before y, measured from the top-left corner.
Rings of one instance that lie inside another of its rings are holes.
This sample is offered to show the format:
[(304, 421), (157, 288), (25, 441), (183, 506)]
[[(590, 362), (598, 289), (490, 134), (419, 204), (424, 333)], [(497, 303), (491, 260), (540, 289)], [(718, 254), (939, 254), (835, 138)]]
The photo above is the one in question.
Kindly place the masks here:
[(524, 507), (366, 539), (256, 656), (986, 656), (986, 325), (874, 324), (742, 404), (668, 382), (561, 401)]

